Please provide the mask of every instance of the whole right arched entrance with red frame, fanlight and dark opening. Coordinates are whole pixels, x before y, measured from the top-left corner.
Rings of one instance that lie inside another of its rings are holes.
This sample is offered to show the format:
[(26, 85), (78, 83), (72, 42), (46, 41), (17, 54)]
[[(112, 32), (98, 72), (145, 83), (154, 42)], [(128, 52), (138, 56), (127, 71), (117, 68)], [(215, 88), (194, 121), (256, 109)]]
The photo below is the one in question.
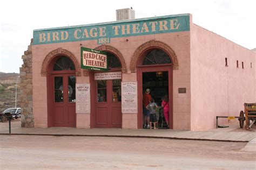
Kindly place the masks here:
[[(161, 42), (158, 42), (162, 44)], [(157, 45), (157, 44), (155, 44)], [(147, 46), (143, 49), (137, 61), (138, 80), (138, 128), (142, 129), (145, 119), (143, 119), (143, 94), (147, 88), (151, 88), (152, 97), (160, 104), (164, 95), (169, 98), (169, 111), (165, 115), (169, 116), (169, 128), (173, 129), (173, 61), (171, 55), (175, 55), (169, 46), (162, 44), (165, 48)], [(158, 45), (157, 45), (158, 46)], [(174, 57), (175, 59), (176, 57)], [(148, 86), (148, 87), (147, 87)], [(166, 93), (166, 94), (164, 94)], [(165, 108), (166, 109), (166, 108)], [(145, 116), (144, 116), (145, 117)], [(160, 120), (160, 118), (159, 118)], [(160, 122), (161, 123), (161, 122)], [(165, 123), (163, 121), (163, 123)], [(161, 126), (161, 124), (159, 124)], [(163, 124), (163, 128), (165, 124)]]

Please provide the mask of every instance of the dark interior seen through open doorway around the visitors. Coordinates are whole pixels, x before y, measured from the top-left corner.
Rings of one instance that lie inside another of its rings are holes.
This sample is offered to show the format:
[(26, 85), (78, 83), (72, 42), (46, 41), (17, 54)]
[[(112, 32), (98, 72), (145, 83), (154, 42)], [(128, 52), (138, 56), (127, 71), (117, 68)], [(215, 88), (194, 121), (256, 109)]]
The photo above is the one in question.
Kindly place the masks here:
[[(158, 108), (156, 109), (157, 116), (157, 128), (169, 129), (166, 122), (169, 122), (169, 117), (164, 116), (163, 107), (161, 103), (164, 100), (165, 95), (169, 95), (169, 74), (168, 71), (157, 71), (157, 72), (143, 72), (143, 94), (146, 89), (150, 89), (150, 95), (154, 99)], [(170, 112), (170, 111), (169, 111)], [(170, 115), (168, 113), (168, 115)], [(145, 123), (145, 115), (143, 114), (143, 123)]]

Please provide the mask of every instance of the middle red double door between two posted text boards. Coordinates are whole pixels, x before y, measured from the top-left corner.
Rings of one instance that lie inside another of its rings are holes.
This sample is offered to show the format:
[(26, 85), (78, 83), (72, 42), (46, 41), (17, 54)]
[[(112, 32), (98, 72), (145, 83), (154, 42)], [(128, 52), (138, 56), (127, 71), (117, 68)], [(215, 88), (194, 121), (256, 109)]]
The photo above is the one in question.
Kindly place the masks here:
[(122, 128), (121, 80), (96, 81), (95, 128)]

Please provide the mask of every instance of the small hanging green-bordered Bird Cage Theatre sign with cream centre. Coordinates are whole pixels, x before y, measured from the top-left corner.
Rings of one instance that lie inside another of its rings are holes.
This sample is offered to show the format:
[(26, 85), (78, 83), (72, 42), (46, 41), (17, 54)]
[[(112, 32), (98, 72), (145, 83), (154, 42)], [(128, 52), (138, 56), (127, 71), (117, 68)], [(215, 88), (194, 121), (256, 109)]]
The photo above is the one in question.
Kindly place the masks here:
[(107, 53), (96, 49), (81, 47), (81, 68), (107, 71)]

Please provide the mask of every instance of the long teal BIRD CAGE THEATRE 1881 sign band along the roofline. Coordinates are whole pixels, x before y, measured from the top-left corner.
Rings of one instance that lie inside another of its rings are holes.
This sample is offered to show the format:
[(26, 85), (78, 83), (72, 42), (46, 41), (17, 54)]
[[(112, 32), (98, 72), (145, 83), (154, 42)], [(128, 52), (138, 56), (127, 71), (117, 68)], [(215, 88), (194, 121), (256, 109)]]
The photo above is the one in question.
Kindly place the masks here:
[(190, 31), (189, 14), (34, 30), (33, 45), (86, 40), (107, 44), (112, 38), (181, 31)]

